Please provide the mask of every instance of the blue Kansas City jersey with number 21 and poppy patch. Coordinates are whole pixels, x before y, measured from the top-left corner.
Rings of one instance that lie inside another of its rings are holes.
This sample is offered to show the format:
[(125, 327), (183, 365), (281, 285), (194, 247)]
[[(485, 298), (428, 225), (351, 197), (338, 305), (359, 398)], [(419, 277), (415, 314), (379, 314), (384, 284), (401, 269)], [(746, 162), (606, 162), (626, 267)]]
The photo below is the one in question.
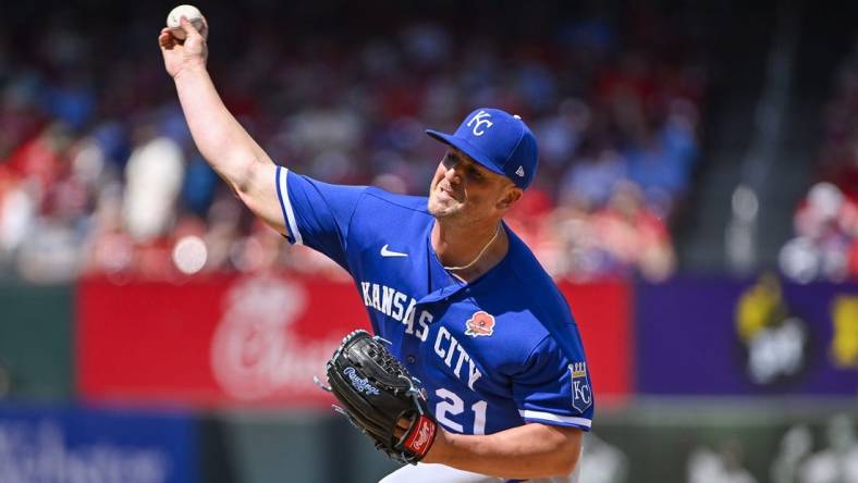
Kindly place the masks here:
[(290, 243), (352, 274), (376, 334), (420, 380), (446, 430), (491, 434), (540, 422), (589, 431), (593, 395), (578, 327), (508, 227), (503, 260), (464, 283), (434, 253), (427, 198), (283, 168), (277, 187)]

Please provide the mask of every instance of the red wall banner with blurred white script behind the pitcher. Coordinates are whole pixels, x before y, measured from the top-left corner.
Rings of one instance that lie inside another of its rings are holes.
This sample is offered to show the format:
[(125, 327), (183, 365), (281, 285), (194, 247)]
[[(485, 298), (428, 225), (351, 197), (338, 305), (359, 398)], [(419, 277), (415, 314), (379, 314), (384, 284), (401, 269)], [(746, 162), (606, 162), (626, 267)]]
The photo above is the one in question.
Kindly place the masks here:
[[(563, 286), (597, 394), (629, 386), (628, 289)], [(342, 337), (369, 329), (354, 285), (289, 275), (184, 285), (86, 278), (77, 300), (77, 383), (90, 399), (329, 407), (312, 382)]]

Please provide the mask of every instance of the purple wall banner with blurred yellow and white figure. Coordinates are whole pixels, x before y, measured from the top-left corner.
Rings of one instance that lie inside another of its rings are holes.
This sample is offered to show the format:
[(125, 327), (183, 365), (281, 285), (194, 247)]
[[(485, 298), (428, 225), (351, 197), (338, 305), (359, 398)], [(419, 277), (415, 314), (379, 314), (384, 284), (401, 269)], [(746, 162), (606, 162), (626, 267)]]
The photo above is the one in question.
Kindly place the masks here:
[(858, 284), (640, 285), (635, 331), (644, 394), (858, 394)]

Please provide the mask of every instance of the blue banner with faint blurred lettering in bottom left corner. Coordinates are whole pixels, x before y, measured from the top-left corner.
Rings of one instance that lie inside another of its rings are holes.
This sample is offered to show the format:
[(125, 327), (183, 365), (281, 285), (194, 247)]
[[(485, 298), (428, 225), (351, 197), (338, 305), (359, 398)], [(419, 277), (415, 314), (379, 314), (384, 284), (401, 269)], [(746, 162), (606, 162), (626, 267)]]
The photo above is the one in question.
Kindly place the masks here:
[(0, 481), (193, 483), (197, 434), (181, 413), (0, 405)]

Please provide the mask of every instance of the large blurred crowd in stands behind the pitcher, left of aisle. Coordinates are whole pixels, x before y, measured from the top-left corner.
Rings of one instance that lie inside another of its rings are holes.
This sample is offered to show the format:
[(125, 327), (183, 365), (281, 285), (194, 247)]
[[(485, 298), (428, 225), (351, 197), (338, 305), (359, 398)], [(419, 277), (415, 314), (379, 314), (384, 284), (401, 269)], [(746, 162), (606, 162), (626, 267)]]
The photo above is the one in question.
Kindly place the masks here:
[[(497, 106), (539, 140), (538, 178), (508, 223), (554, 276), (661, 280), (675, 269), (670, 223), (698, 160), (707, 92), (679, 20), (499, 9), (471, 26), (403, 11), (394, 24), (333, 32), (267, 8), (205, 13), (216, 85), (275, 162), (422, 195), (443, 152), (424, 129), (452, 131)], [(41, 18), (40, 35), (0, 32), (0, 272), (342, 276), (284, 249), (200, 158), (157, 50), (159, 15), (70, 8)]]

